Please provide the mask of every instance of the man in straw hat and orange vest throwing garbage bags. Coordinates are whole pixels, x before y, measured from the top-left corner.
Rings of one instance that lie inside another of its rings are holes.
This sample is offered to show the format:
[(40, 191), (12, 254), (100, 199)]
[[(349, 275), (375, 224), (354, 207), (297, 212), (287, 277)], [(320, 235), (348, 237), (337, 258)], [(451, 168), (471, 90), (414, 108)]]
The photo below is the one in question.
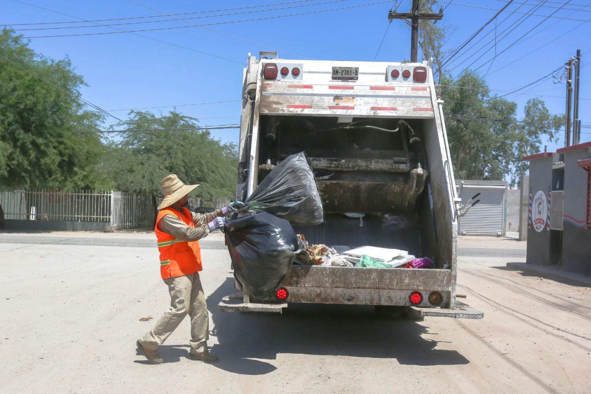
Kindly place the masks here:
[(161, 186), (164, 199), (158, 206), (160, 213), (154, 231), (160, 252), (160, 273), (170, 293), (170, 308), (136, 344), (151, 363), (163, 363), (158, 345), (164, 343), (189, 314), (190, 358), (215, 363), (217, 357), (207, 351), (209, 316), (199, 279), (202, 261), (197, 240), (223, 226), (224, 217), (243, 203), (235, 201), (212, 213), (193, 213), (187, 209), (187, 194), (199, 185), (186, 185), (172, 174), (161, 181)]

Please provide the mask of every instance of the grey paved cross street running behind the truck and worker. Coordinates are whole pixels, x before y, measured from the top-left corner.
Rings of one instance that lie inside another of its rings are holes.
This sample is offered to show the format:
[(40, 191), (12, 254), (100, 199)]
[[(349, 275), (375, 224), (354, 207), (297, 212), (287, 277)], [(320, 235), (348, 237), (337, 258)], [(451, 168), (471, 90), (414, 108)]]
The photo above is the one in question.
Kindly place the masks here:
[[(87, 245), (87, 246), (121, 246), (138, 248), (156, 248), (154, 239), (126, 239), (116, 237), (56, 237), (43, 235), (12, 235), (0, 234), (0, 243), (28, 244), (28, 245)], [(223, 239), (202, 239), (199, 241), (202, 249), (226, 249)], [(459, 256), (525, 258), (525, 249), (517, 248), (459, 248)]]

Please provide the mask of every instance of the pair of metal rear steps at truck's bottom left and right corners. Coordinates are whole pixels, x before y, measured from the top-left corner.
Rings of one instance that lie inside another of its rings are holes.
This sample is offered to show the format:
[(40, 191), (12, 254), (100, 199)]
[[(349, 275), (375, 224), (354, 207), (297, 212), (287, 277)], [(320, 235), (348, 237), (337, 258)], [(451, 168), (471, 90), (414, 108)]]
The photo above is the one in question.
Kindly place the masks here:
[[(484, 313), (463, 302), (456, 302), (457, 307), (454, 310), (441, 308), (417, 308), (408, 307), (410, 317), (414, 319), (422, 319), (426, 316), (435, 317), (454, 317), (457, 319), (482, 319)], [(255, 302), (244, 302), (242, 299), (230, 299), (229, 297), (222, 298), (222, 301), (217, 305), (217, 308), (222, 312), (278, 312), (281, 313), (283, 308), (287, 308), (287, 302), (281, 304), (257, 304)]]

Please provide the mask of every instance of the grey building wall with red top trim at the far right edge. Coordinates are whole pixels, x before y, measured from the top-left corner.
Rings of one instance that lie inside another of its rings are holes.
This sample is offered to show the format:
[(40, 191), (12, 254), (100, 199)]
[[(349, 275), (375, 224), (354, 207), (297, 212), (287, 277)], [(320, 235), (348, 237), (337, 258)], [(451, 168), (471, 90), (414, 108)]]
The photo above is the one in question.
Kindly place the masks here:
[[(559, 149), (559, 151), (562, 149)], [(587, 171), (577, 161), (591, 157), (587, 148), (564, 152), (564, 211), (561, 267), (591, 276), (591, 230), (587, 226)]]

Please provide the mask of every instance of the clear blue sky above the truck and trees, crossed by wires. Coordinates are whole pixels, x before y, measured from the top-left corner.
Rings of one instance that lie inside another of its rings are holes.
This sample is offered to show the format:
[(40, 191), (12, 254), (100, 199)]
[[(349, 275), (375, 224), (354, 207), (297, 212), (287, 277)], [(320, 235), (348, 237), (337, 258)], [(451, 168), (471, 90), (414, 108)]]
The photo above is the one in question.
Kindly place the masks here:
[[(135, 1), (135, 0), (134, 0)], [(378, 0), (309, 0), (291, 1), (236, 1), (193, 2), (138, 0), (139, 3), (164, 11), (167, 14), (201, 12), (185, 15), (202, 17), (191, 19), (198, 24), (238, 21), (242, 19), (267, 18), (278, 15), (333, 9), (333, 11), (291, 17), (261, 19), (204, 27), (191, 25), (186, 21), (116, 25), (121, 30), (143, 30), (150, 28), (173, 28), (156, 31), (128, 32), (121, 34), (82, 35), (77, 37), (31, 38), (35, 51), (52, 58), (69, 56), (76, 71), (85, 78), (88, 87), (82, 89), (86, 100), (106, 110), (145, 108), (179, 105), (177, 110), (199, 118), (203, 125), (222, 125), (239, 122), (242, 68), (250, 52), (277, 50), (285, 58), (312, 58), (330, 60), (374, 60), (380, 41), (388, 27), (388, 9), (397, 2)], [(26, 0), (27, 3), (81, 19), (112, 19), (163, 15), (131, 0), (73, 1)], [(478, 30), (506, 0), (454, 0), (441, 1), (446, 7), (443, 23), (450, 29), (449, 41), (444, 50), (453, 51)], [(320, 4), (323, 3), (323, 4)], [(379, 3), (379, 4), (375, 4)], [(95, 26), (66, 28), (59, 30), (22, 30), (25, 37), (41, 35), (85, 34), (90, 32), (113, 32), (112, 28), (92, 23), (60, 25), (15, 25), (41, 22), (79, 21), (72, 17), (56, 14), (14, 0), (0, 0), (0, 25), (15, 29), (55, 28), (73, 26)], [(223, 12), (203, 12), (245, 6), (269, 5), (259, 8), (238, 9)], [(372, 5), (367, 5), (372, 4)], [(398, 11), (407, 12), (410, 0), (398, 2)], [(566, 5), (564, 5), (566, 4)], [(356, 5), (363, 5), (357, 6)], [(541, 5), (537, 7), (538, 5)], [(293, 7), (293, 8), (286, 8)], [(352, 7), (352, 8), (347, 8)], [(562, 7), (562, 8), (560, 8)], [(261, 11), (269, 8), (284, 8), (275, 11)], [(250, 12), (226, 16), (236, 12)], [(502, 31), (511, 26), (511, 34), (498, 41), (496, 53), (500, 53), (513, 41), (524, 35), (521, 42), (497, 56), (492, 63), (483, 63), (495, 55), (495, 22), (486, 27), (466, 48), (484, 37), (472, 50), (456, 57), (450, 63), (453, 74), (462, 71), (475, 62), (472, 68), (482, 66), (479, 71), (486, 75), (491, 89), (499, 95), (518, 89), (563, 65), (576, 50), (589, 53), (583, 57), (581, 69), (580, 114), (583, 125), (591, 125), (591, 69), (585, 67), (591, 57), (591, 1), (587, 0), (514, 0), (506, 11), (496, 19), (497, 40)], [(512, 12), (513, 11), (513, 12)], [(535, 15), (524, 15), (525, 12)], [(554, 13), (554, 14), (553, 14)], [(548, 15), (550, 18), (546, 18)], [(539, 15), (539, 16), (538, 16)], [(504, 22), (503, 19), (507, 18)], [(521, 18), (521, 19), (519, 19)], [(161, 18), (102, 21), (99, 24), (153, 21), (174, 19), (163, 15)], [(546, 20), (544, 20), (546, 19)], [(572, 20), (577, 19), (577, 20)], [(541, 22), (541, 23), (540, 23)], [(440, 22), (439, 22), (440, 23)], [(538, 27), (536, 25), (540, 24)], [(534, 28), (536, 27), (536, 28)], [(534, 28), (534, 30), (531, 30)], [(528, 32), (530, 31), (531, 32)], [(488, 35), (486, 35), (488, 33)], [(506, 34), (506, 33), (505, 33)], [(156, 41), (159, 40), (159, 41)], [(492, 40), (492, 43), (484, 45)], [(162, 43), (166, 41), (169, 44)], [(552, 41), (552, 42), (550, 42)], [(185, 47), (185, 48), (181, 48)], [(270, 47), (270, 48), (269, 48)], [(474, 53), (476, 49), (483, 50)], [(538, 49), (540, 48), (540, 49)], [(485, 51), (488, 52), (485, 53)], [(213, 55), (213, 56), (209, 56)], [(531, 54), (530, 54), (531, 53)], [(220, 58), (221, 57), (221, 58)], [(419, 56), (421, 58), (421, 55)], [(410, 30), (402, 21), (392, 21), (376, 60), (402, 61), (410, 58)], [(489, 69), (489, 66), (490, 69)], [(501, 68), (503, 67), (503, 68)], [(560, 74), (560, 73), (557, 73)], [(518, 93), (506, 96), (518, 103), (518, 115), (522, 116), (527, 99), (540, 96), (552, 113), (563, 113), (565, 106), (564, 83), (547, 78), (532, 84)], [(209, 105), (194, 103), (226, 102)], [(168, 112), (171, 108), (151, 109)], [(112, 111), (113, 115), (125, 116), (126, 111)], [(108, 119), (113, 122), (114, 119)], [(107, 123), (105, 126), (108, 126)], [(238, 129), (213, 131), (222, 141), (238, 141)], [(564, 135), (558, 144), (548, 144), (554, 151), (563, 145)], [(591, 141), (591, 128), (583, 128), (582, 141)]]

